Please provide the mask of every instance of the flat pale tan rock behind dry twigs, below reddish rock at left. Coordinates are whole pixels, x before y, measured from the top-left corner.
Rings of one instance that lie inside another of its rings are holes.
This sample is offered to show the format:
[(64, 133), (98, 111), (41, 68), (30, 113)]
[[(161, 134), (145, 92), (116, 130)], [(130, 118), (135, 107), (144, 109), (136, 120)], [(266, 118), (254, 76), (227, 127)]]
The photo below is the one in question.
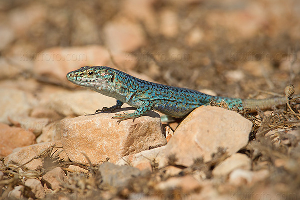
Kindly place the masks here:
[[(18, 149), (18, 151), (13, 152), (13, 153), (9, 154), (7, 157), (5, 157), (4, 164), (5, 164), (5, 166), (7, 166), (9, 168), (18, 167), (18, 166), (28, 162), (36, 155), (39, 155), (39, 154), (45, 152), (49, 147), (54, 146), (54, 145), (57, 147), (62, 146), (59, 141), (56, 141), (56, 142), (33, 144), (30, 146), (20, 148), (20, 149)], [(54, 148), (52, 153), (54, 153), (54, 151), (56, 149), (57, 148)], [(59, 153), (62, 150), (63, 149), (58, 148), (57, 152), (55, 152), (54, 155)], [(65, 152), (60, 153), (58, 156), (65, 161), (69, 160), (67, 155), (65, 154)], [(31, 162), (29, 162), (28, 164), (26, 164), (25, 167), (28, 168), (29, 170), (34, 170), (38, 166), (41, 166), (41, 165), (42, 165), (42, 162), (40, 159), (34, 159)]]

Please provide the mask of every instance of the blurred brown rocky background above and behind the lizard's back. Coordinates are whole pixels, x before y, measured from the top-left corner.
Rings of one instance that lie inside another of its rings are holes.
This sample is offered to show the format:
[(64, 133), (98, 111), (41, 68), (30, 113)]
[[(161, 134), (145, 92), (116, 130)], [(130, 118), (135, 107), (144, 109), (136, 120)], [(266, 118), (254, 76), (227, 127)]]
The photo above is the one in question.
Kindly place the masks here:
[(0, 79), (71, 87), (109, 65), (231, 97), (300, 90), (298, 0), (1, 0), (0, 38)]

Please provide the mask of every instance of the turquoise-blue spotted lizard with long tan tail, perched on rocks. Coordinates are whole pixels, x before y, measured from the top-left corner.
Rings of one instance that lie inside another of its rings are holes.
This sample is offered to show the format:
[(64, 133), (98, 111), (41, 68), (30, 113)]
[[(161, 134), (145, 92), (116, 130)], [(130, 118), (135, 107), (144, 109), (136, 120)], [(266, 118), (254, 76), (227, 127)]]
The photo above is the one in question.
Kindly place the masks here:
[(241, 99), (222, 96), (212, 96), (196, 90), (173, 87), (149, 82), (131, 76), (120, 70), (108, 66), (84, 66), (71, 71), (66, 75), (67, 80), (105, 96), (116, 99), (116, 105), (96, 110), (114, 111), (121, 108), (124, 103), (137, 108), (133, 113), (117, 113), (112, 118), (121, 122), (126, 119), (136, 119), (150, 110), (157, 110), (175, 118), (183, 118), (192, 110), (202, 105), (209, 105), (211, 101), (220, 103), (224, 101), (231, 109), (248, 108), (249, 112), (256, 112), (258, 106), (261, 110), (272, 106), (286, 104), (286, 97), (273, 97), (266, 99)]

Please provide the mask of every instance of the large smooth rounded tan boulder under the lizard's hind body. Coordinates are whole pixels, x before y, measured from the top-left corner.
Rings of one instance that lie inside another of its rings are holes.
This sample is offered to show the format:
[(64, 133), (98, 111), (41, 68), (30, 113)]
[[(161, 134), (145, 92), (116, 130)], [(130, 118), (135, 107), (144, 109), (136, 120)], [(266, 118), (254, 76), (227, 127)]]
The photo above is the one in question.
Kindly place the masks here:
[(228, 155), (248, 143), (252, 122), (240, 114), (220, 107), (199, 107), (177, 127), (166, 145), (166, 157), (175, 154), (176, 164), (190, 166), (199, 157), (211, 160), (219, 147)]

